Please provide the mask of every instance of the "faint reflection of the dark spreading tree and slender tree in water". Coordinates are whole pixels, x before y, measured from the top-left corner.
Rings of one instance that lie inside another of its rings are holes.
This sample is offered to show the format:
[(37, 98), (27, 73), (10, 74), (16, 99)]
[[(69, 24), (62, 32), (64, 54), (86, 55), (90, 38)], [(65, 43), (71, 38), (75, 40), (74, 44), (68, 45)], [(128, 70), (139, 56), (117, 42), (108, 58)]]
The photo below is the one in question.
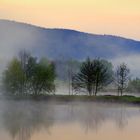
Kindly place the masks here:
[(85, 133), (89, 130), (97, 132), (107, 121), (113, 122), (119, 129), (123, 129), (128, 124), (126, 107), (123, 105), (84, 103), (79, 105), (69, 105), (65, 121), (77, 121), (84, 128)]

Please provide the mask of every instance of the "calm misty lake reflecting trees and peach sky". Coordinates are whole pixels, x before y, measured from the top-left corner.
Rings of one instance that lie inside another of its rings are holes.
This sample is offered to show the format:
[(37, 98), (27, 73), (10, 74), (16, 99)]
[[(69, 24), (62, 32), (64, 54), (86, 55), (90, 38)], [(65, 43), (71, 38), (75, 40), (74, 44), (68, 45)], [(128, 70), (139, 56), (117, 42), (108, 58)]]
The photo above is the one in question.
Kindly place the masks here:
[(140, 140), (140, 107), (0, 101), (0, 140)]

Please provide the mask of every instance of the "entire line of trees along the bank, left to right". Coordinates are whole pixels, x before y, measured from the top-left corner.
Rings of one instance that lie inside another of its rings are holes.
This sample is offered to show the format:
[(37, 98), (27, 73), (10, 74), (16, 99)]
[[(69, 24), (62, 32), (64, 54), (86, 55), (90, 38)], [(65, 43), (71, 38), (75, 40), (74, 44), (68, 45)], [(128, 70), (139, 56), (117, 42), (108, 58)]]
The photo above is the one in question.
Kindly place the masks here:
[(121, 96), (124, 91), (140, 91), (140, 79), (130, 80), (130, 70), (125, 63), (114, 70), (112, 63), (104, 59), (87, 58), (81, 62), (62, 63), (58, 60), (38, 59), (26, 51), (21, 51), (8, 64), (3, 72), (2, 87), (8, 95), (55, 94), (55, 80), (59, 76), (65, 77), (69, 83), (69, 95), (84, 93), (96, 96), (98, 91), (108, 85), (114, 86)]

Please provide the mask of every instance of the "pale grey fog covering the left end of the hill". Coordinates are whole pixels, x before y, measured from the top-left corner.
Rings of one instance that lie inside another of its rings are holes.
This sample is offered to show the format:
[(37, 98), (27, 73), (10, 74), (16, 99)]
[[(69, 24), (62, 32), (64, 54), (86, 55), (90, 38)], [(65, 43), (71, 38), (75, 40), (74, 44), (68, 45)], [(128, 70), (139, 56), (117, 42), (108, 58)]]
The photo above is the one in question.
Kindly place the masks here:
[(0, 21), (0, 72), (21, 49), (31, 51), (37, 38), (34, 28)]

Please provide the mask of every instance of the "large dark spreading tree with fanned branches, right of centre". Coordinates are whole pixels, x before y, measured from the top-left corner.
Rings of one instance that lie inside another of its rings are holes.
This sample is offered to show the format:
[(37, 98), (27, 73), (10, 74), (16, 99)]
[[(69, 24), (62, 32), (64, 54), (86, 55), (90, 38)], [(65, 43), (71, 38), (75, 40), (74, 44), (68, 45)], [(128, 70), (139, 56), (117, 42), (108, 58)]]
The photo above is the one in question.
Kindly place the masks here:
[(97, 94), (103, 86), (112, 82), (112, 65), (108, 61), (95, 59), (93, 61), (87, 58), (82, 63), (80, 72), (73, 76), (73, 89), (88, 91), (88, 95)]

